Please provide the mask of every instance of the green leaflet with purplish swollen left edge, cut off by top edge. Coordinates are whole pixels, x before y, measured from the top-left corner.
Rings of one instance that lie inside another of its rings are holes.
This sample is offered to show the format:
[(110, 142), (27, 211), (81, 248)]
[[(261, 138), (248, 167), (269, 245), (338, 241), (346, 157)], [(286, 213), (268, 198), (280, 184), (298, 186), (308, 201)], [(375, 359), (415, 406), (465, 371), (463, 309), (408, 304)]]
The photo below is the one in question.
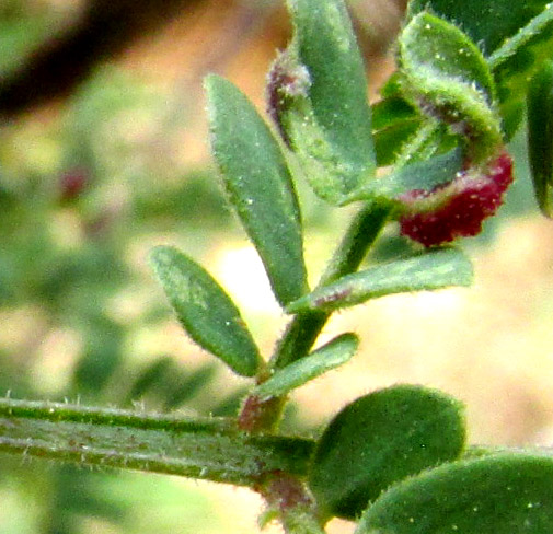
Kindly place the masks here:
[(338, 204), (375, 174), (362, 59), (342, 0), (288, 5), (295, 35), (269, 73), (269, 109), (313, 190)]

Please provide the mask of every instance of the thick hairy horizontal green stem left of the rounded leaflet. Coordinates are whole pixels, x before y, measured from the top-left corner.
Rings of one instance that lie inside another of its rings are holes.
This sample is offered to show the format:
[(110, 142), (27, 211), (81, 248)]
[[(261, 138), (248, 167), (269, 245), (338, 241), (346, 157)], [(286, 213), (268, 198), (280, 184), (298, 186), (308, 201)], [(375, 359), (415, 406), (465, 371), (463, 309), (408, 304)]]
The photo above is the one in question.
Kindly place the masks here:
[(256, 487), (306, 476), (313, 442), (255, 437), (235, 421), (0, 399), (0, 452)]

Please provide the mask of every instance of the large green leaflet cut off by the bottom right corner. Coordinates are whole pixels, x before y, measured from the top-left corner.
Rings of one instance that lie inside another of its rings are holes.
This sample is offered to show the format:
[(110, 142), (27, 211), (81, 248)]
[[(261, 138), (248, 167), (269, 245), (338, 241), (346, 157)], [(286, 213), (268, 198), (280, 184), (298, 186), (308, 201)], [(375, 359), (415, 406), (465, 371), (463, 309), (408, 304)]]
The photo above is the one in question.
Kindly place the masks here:
[(406, 479), (365, 512), (356, 534), (549, 534), (553, 460), (499, 453)]

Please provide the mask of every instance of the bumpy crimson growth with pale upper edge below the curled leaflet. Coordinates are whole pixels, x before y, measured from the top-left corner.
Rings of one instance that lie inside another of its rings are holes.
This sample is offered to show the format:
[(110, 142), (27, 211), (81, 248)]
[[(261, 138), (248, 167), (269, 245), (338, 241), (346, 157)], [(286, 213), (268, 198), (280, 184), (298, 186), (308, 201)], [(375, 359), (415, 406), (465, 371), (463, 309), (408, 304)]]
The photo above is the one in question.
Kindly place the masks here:
[(466, 169), (448, 184), (400, 197), (406, 211), (400, 218), (401, 234), (424, 246), (476, 235), (482, 221), (493, 216), (512, 182), (512, 160), (506, 151), (482, 170)]

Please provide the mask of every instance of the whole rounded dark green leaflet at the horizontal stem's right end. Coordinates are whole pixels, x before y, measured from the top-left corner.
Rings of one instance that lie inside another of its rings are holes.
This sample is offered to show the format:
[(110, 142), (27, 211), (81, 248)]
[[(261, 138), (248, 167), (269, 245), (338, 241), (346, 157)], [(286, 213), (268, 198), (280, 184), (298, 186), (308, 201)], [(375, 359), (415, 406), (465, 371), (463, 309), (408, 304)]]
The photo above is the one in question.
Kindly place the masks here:
[(461, 404), (415, 385), (381, 390), (346, 406), (316, 444), (309, 484), (327, 515), (358, 516), (403, 478), (459, 457)]

